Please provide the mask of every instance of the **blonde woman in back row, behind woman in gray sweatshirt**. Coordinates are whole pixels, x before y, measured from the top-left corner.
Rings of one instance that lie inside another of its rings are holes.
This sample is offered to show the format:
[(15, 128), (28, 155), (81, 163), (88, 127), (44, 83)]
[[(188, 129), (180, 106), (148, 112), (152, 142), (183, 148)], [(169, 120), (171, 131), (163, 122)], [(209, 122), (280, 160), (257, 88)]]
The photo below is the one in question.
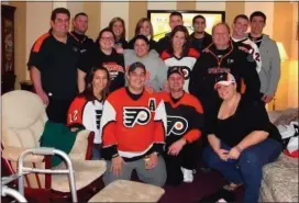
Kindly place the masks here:
[(156, 49), (157, 42), (154, 41), (154, 30), (148, 18), (141, 18), (135, 26), (135, 36), (129, 42), (129, 48), (134, 49), (134, 42), (137, 35), (144, 35), (148, 38), (150, 49)]

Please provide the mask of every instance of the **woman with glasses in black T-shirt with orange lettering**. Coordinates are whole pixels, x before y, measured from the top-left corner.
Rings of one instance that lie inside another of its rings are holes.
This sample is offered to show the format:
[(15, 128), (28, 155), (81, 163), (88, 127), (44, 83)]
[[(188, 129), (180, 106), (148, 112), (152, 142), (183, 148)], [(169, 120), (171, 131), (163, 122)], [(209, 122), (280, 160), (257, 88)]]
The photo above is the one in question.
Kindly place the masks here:
[(109, 27), (100, 32), (96, 40), (99, 48), (93, 64), (95, 67), (104, 67), (108, 69), (111, 78), (110, 92), (124, 87), (124, 58), (122, 54), (118, 54), (113, 48), (114, 42), (115, 35)]

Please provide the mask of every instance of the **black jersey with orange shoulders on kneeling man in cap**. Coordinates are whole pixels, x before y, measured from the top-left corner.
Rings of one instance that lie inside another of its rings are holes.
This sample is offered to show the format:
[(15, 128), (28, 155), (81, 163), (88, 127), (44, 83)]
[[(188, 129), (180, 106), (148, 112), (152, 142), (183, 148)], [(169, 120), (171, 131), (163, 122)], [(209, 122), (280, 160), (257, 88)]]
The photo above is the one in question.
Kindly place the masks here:
[(198, 139), (203, 126), (201, 103), (187, 92), (176, 101), (166, 92), (159, 93), (158, 97), (164, 100), (167, 114), (166, 143), (182, 137), (188, 143)]

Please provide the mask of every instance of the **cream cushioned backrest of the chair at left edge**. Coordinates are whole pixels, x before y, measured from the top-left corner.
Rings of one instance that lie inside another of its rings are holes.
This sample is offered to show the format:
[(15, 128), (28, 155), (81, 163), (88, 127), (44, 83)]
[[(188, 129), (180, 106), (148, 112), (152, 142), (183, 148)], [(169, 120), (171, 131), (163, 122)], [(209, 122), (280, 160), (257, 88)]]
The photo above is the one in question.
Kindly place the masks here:
[(38, 147), (47, 121), (38, 95), (15, 90), (2, 95), (2, 144), (10, 147)]

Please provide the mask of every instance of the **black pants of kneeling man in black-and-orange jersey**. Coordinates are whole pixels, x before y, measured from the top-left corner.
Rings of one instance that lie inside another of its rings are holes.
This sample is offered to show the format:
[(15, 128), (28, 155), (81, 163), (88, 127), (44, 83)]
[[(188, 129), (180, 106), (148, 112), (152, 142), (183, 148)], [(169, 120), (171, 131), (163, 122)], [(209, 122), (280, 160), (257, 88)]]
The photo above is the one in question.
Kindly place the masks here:
[(166, 163), (167, 180), (166, 184), (178, 185), (182, 182), (182, 172), (180, 167), (195, 170), (198, 162), (198, 144), (191, 143), (182, 147), (177, 156), (168, 155), (168, 147), (175, 143), (166, 139), (166, 150), (164, 159)]

